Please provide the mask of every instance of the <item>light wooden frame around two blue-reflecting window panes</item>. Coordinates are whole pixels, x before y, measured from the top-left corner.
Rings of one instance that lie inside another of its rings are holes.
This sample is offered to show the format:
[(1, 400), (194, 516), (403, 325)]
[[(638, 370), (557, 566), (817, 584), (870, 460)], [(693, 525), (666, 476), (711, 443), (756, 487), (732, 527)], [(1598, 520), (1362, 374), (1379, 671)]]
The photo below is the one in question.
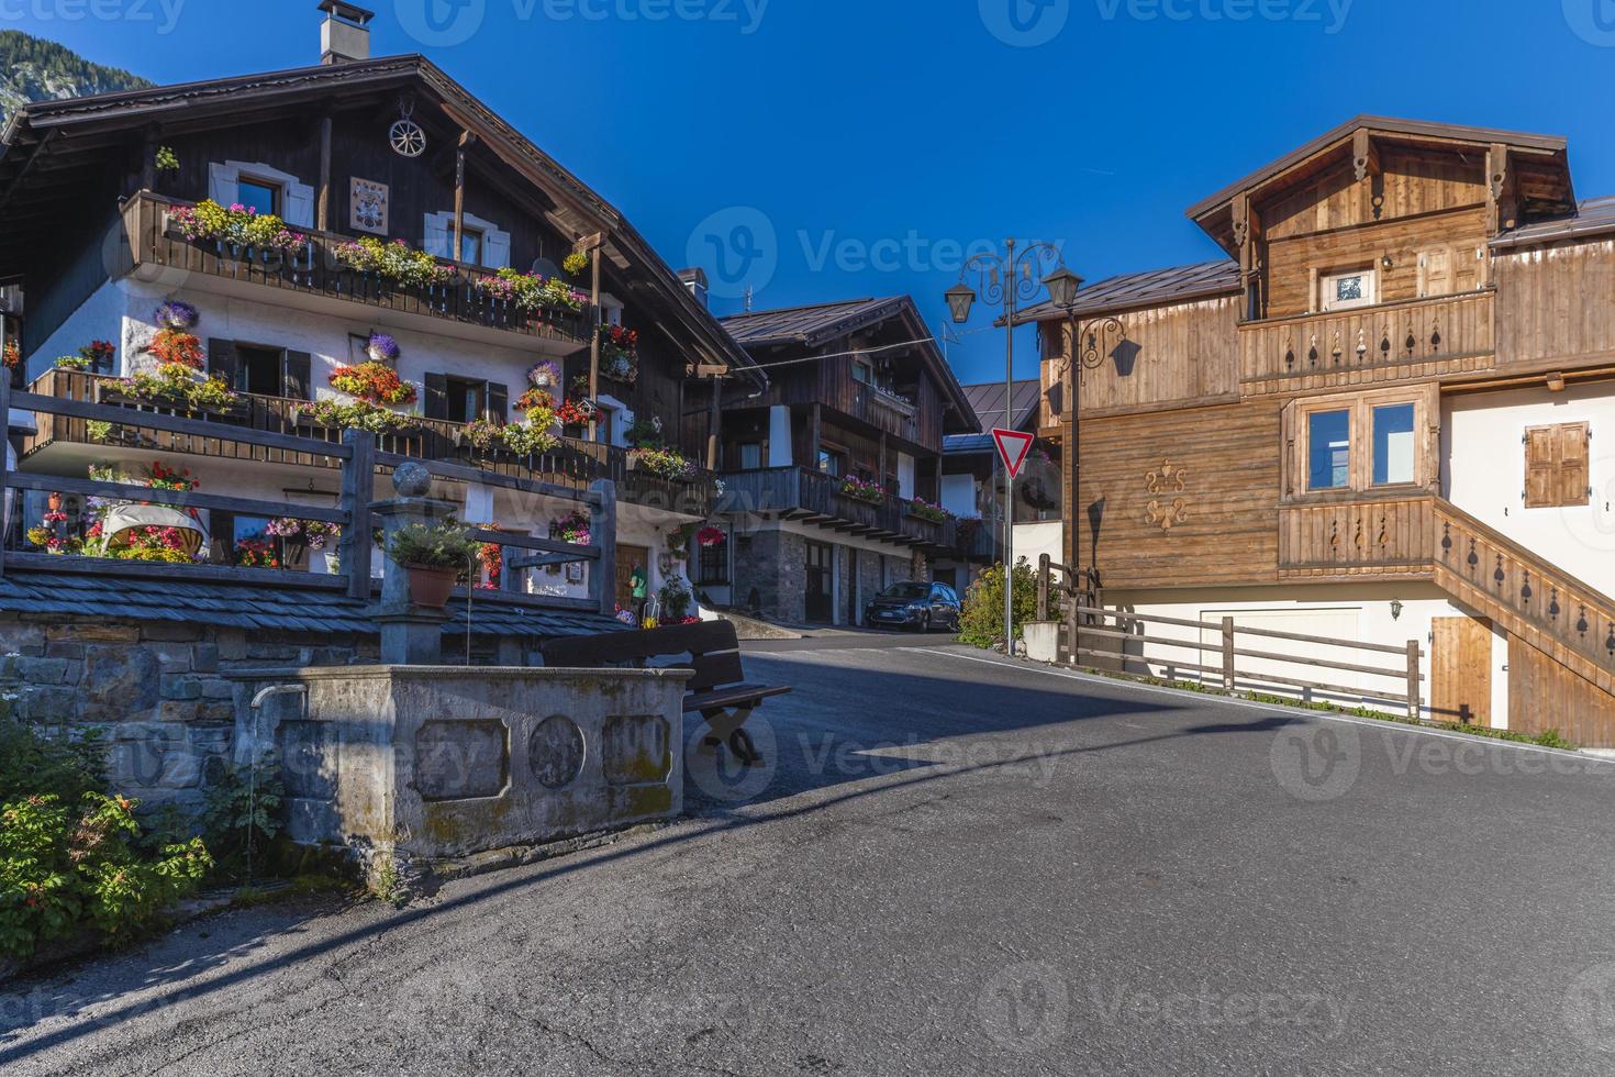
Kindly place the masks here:
[[(1374, 484), (1374, 409), (1413, 405), (1413, 481)], [(1350, 475), (1334, 489), (1310, 489), (1311, 415), (1350, 413)], [(1337, 392), (1292, 400), (1284, 409), (1284, 501), (1360, 501), (1371, 496), (1436, 492), (1441, 483), (1441, 389), (1434, 384)]]

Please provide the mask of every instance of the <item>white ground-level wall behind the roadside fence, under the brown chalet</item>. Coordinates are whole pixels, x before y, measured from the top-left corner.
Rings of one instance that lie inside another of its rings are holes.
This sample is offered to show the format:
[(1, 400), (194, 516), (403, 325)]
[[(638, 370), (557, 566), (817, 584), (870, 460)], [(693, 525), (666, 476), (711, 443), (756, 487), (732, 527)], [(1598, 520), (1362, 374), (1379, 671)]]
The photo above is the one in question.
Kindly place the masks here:
[[(1402, 602), (1402, 617), (1392, 617), (1392, 601)], [(1106, 591), (1105, 606), (1124, 609), (1134, 614), (1156, 617), (1174, 617), (1221, 625), (1224, 617), (1232, 617), (1237, 625), (1247, 628), (1263, 628), (1287, 631), (1307, 636), (1324, 636), (1350, 639), (1357, 643), (1374, 643), (1391, 647), (1407, 647), (1408, 641), (1418, 641), (1424, 652), (1420, 668), (1424, 677), (1420, 696), (1424, 701), (1426, 717), (1431, 699), (1431, 635), (1433, 622), (1441, 617), (1470, 617), (1473, 610), (1452, 602), (1433, 583), (1373, 583), (1350, 586), (1274, 586), (1274, 588), (1203, 588), (1179, 591)], [(1200, 641), (1205, 644), (1221, 644), (1221, 630), (1195, 630), (1171, 625), (1148, 625), (1147, 638), (1127, 643), (1127, 652), (1142, 659), (1153, 677), (1185, 681), (1206, 681), (1221, 685), (1218, 673), (1198, 673), (1181, 668), (1182, 664), (1221, 665), (1216, 649), (1197, 652), (1187, 647), (1174, 647), (1156, 643), (1160, 639)], [(1239, 659), (1239, 672), (1271, 673), (1292, 680), (1307, 680), (1340, 685), (1357, 689), (1407, 691), (1405, 677), (1378, 677), (1368, 673), (1352, 673), (1305, 662), (1345, 662), (1352, 665), (1370, 665), (1384, 670), (1402, 670), (1407, 662), (1399, 654), (1374, 651), (1357, 651), (1315, 643), (1298, 643), (1287, 639), (1263, 639), (1260, 636), (1239, 636), (1237, 646), (1252, 651), (1271, 651), (1289, 654), (1302, 662), (1277, 662), (1271, 659)], [(1492, 638), (1492, 727), (1508, 728), (1508, 644), (1504, 633)], [(1256, 688), (1274, 696), (1300, 696), (1300, 689), (1284, 688), (1253, 681), (1242, 688)], [(1382, 702), (1370, 696), (1353, 696), (1350, 693), (1316, 693), (1318, 702), (1336, 702), (1340, 706), (1365, 706), (1376, 710), (1400, 714), (1399, 704)], [(1450, 719), (1445, 719), (1450, 720)]]

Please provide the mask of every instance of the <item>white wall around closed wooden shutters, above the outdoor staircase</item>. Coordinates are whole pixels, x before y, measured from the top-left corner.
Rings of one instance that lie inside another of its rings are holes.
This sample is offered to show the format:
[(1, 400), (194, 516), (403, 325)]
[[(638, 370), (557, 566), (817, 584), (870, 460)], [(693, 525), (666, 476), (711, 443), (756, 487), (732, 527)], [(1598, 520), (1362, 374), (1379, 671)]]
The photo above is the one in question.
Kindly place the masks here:
[[(1442, 492), (1588, 585), (1615, 593), (1615, 384), (1455, 396), (1442, 405)], [(1525, 431), (1589, 423), (1592, 499), (1525, 507)]]

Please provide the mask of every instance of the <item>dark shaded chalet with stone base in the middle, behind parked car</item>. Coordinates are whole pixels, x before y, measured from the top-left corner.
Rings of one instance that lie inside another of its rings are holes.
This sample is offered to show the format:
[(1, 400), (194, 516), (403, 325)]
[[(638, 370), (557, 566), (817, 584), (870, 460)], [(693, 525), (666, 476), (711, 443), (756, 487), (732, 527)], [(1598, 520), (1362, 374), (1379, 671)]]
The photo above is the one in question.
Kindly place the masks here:
[(715, 602), (788, 623), (862, 623), (885, 586), (984, 559), (974, 513), (942, 512), (943, 439), (977, 418), (906, 297), (724, 320), (769, 378), (722, 417), (725, 543), (696, 578)]

